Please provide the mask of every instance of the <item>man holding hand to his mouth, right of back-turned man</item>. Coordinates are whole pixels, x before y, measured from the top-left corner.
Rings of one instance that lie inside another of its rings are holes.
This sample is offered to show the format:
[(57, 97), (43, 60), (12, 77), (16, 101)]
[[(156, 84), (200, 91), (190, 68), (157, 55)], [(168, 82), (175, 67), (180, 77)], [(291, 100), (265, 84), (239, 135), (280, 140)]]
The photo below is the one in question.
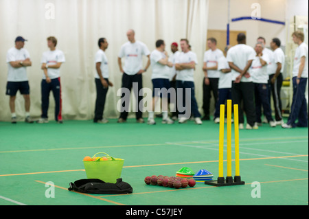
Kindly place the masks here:
[(253, 80), (254, 84), (254, 93), (255, 93), (255, 113), (256, 113), (256, 122), (258, 125), (262, 125), (262, 111), (267, 121), (271, 127), (276, 126), (276, 122), (271, 116), (271, 104), (269, 102), (268, 95), (268, 73), (267, 73), (267, 63), (269, 63), (270, 57), (267, 53), (264, 53), (264, 44), (258, 42), (255, 45), (256, 56), (252, 61), (252, 65), (249, 69), (249, 73)]

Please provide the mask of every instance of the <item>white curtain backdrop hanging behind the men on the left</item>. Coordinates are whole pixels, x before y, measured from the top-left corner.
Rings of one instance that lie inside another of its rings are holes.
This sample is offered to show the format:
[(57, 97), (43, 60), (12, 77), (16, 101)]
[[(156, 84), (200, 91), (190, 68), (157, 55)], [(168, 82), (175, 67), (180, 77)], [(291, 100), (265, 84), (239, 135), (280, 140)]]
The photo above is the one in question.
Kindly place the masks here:
[[(195, 71), (196, 98), (203, 101), (203, 53), (207, 34), (207, 0), (0, 0), (0, 120), (10, 121), (9, 97), (5, 95), (8, 64), (6, 52), (16, 36), (28, 41), (32, 67), (27, 68), (30, 83), (32, 117), (41, 115), (41, 56), (48, 36), (58, 39), (57, 49), (64, 52), (61, 66), (62, 115), (64, 119), (92, 119), (95, 106), (95, 64), (98, 38), (107, 39), (106, 50), (110, 80), (114, 87), (107, 93), (104, 117), (118, 117), (117, 89), (122, 74), (117, 54), (127, 40), (126, 31), (135, 30), (135, 38), (155, 49), (161, 38), (170, 53), (170, 44), (188, 38), (198, 57)], [(53, 14), (54, 13), (54, 14)], [(180, 48), (179, 48), (180, 49)], [(146, 58), (144, 59), (146, 65)], [(144, 73), (143, 87), (152, 89), (151, 68)], [(54, 118), (54, 98), (49, 98), (49, 118)], [(23, 97), (16, 96), (16, 114), (24, 117)], [(132, 113), (131, 113), (131, 116)]]

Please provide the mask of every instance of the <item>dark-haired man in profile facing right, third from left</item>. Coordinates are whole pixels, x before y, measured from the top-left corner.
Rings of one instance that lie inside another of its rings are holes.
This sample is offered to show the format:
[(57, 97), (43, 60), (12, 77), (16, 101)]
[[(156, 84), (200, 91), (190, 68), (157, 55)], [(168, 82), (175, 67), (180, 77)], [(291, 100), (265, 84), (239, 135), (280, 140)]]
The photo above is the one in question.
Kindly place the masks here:
[(106, 93), (108, 87), (113, 87), (113, 83), (108, 80), (108, 60), (105, 50), (108, 47), (106, 38), (100, 38), (98, 41), (99, 50), (95, 54), (95, 88), (97, 97), (95, 100), (95, 116), (93, 122), (99, 124), (108, 123), (108, 119), (103, 117)]

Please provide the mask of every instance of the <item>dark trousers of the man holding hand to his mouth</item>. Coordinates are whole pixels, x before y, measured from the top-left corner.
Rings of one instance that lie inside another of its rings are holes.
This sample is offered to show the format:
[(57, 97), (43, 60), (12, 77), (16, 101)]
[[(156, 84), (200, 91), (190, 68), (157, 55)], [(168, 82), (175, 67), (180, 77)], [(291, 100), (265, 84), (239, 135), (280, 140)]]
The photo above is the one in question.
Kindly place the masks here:
[(273, 121), (273, 117), (271, 117), (271, 104), (269, 101), (269, 91), (268, 84), (254, 84), (254, 94), (255, 94), (255, 113), (256, 113), (256, 122), (262, 123), (262, 106), (263, 112), (266, 116), (268, 122)]

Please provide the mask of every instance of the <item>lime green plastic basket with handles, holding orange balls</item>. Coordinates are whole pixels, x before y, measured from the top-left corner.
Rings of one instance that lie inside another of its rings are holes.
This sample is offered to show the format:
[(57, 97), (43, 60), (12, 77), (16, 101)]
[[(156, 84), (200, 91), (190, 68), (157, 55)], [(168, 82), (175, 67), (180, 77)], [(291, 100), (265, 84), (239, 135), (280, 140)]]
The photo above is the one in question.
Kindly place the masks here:
[[(93, 157), (96, 157), (97, 154), (105, 154), (102, 157), (111, 157), (104, 152), (98, 152)], [(99, 178), (106, 183), (116, 183), (117, 178), (120, 178), (122, 174), (122, 167), (124, 165), (124, 159), (116, 160), (114, 157), (111, 157), (109, 161), (97, 159), (96, 161), (83, 162), (87, 178)]]

